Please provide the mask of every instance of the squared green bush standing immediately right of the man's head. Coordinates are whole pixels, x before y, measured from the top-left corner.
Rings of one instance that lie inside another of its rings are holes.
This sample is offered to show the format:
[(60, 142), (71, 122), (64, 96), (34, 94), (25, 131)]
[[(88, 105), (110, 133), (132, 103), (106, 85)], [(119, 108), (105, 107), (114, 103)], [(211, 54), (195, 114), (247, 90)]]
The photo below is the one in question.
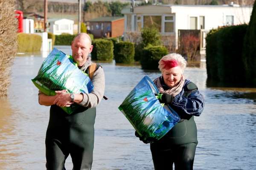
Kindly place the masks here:
[(93, 40), (92, 59), (100, 61), (113, 60), (113, 42), (105, 39)]

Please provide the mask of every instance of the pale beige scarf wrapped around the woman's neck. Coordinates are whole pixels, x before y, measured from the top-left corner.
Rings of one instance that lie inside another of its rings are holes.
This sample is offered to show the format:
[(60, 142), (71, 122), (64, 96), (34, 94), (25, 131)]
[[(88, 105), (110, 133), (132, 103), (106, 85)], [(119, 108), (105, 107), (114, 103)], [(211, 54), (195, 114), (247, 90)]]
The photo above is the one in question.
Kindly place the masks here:
[(163, 90), (163, 86), (161, 84), (160, 77), (155, 79), (154, 83), (157, 84), (157, 88), (161, 94), (171, 94), (172, 96), (176, 96), (177, 94), (179, 94), (182, 91), (182, 88), (185, 83), (185, 78), (183, 75), (181, 75), (181, 78), (180, 78), (180, 81), (178, 82), (178, 84), (166, 91)]

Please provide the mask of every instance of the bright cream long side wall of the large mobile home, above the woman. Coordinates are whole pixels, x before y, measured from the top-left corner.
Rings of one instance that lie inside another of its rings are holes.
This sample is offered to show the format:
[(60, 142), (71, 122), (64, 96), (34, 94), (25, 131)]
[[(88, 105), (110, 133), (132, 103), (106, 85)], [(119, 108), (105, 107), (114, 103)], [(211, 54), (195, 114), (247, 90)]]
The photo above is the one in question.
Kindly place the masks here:
[(233, 16), (233, 25), (249, 23), (251, 10), (252, 8), (243, 7), (172, 7), (175, 13), (176, 44), (178, 29), (190, 29), (190, 17), (197, 18), (197, 29), (200, 29), (199, 17), (204, 16), (204, 29), (210, 30), (218, 26), (226, 26), (226, 16)]

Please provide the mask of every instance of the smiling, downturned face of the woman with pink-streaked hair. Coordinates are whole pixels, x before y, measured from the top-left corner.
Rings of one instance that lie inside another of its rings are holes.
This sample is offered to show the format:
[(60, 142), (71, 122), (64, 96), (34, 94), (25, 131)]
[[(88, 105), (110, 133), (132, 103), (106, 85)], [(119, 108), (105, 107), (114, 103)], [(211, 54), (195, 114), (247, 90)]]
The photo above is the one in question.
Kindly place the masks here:
[(166, 85), (168, 85), (170, 88), (174, 87), (178, 84), (180, 81), (182, 70), (180, 66), (170, 68), (168, 70), (164, 69), (162, 71), (163, 74), (163, 80)]

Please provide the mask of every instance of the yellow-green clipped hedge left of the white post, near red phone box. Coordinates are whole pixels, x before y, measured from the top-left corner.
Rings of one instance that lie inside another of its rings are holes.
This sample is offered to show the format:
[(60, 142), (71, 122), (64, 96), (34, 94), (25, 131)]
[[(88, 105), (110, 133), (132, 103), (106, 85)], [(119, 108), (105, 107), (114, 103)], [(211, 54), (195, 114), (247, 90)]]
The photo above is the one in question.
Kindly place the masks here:
[(42, 37), (37, 34), (17, 34), (18, 52), (40, 51)]

